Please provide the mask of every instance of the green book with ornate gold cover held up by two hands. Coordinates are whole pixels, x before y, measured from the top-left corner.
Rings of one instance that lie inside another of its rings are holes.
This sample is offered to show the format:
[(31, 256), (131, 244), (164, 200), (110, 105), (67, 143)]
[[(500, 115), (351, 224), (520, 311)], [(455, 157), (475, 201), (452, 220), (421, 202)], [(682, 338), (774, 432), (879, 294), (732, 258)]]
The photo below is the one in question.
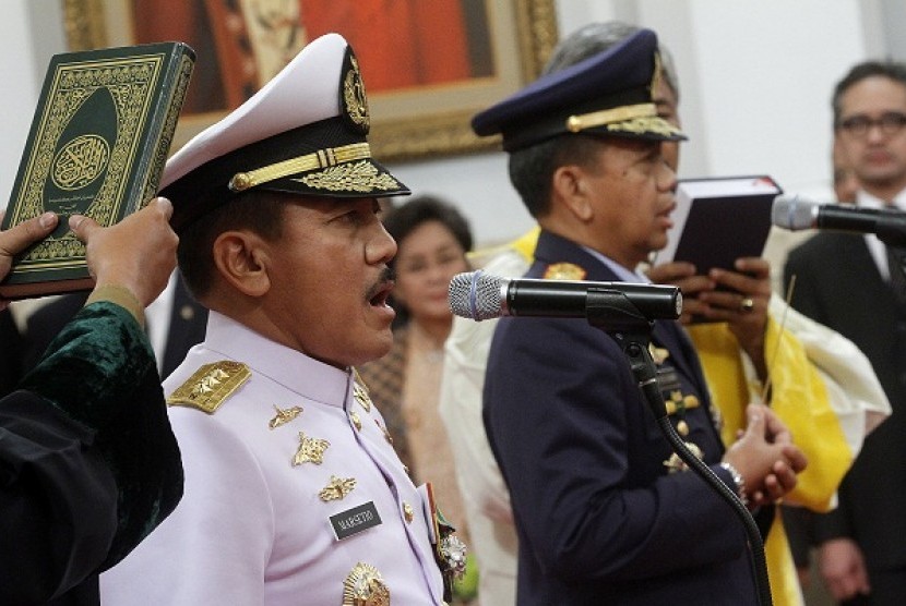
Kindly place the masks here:
[(156, 194), (194, 66), (182, 43), (56, 54), (50, 60), (2, 229), (57, 213), (57, 229), (13, 262), (0, 296), (88, 290), (70, 215), (111, 226)]

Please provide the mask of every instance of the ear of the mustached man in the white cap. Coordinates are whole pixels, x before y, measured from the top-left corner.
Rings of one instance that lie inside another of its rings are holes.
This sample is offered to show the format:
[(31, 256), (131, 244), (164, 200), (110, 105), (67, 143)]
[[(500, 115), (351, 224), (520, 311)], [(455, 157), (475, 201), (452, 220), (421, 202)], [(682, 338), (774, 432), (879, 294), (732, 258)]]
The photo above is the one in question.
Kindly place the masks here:
[(269, 250), (264, 239), (249, 230), (225, 231), (212, 246), (220, 278), (249, 296), (261, 296), (271, 289)]

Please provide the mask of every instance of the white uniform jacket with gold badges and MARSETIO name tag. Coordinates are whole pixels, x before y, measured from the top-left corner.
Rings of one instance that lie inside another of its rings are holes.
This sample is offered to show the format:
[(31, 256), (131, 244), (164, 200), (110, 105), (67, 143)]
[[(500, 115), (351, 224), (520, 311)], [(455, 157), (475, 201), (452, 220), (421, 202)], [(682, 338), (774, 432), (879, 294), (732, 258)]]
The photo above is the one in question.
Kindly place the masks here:
[(169, 407), (184, 496), (102, 575), (102, 603), (326, 606), (385, 590), (390, 604), (441, 604), (421, 493), (353, 373), (212, 312), (165, 393), (236, 383), (235, 364), (193, 376), (223, 361), (250, 376), (211, 413)]

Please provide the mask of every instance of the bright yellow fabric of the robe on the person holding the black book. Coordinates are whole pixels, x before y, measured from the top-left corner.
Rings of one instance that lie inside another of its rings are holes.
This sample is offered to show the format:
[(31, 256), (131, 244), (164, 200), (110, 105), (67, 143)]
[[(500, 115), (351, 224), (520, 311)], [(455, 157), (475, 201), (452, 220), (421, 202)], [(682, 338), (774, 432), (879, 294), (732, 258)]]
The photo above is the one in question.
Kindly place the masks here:
[[(756, 399), (760, 384), (749, 384), (739, 343), (726, 324), (690, 326), (689, 334), (699, 351), (713, 402), (724, 419), (722, 438), (729, 446), (736, 440), (737, 432), (746, 426), (746, 404)], [(804, 348), (773, 319), (767, 324), (765, 352), (772, 377), (771, 408), (810, 462), (799, 474), (796, 489), (785, 498), (787, 502), (814, 511), (827, 511), (853, 462), (853, 451), (831, 409), (824, 383), (809, 362)], [(774, 604), (802, 604), (779, 512), (764, 549)]]

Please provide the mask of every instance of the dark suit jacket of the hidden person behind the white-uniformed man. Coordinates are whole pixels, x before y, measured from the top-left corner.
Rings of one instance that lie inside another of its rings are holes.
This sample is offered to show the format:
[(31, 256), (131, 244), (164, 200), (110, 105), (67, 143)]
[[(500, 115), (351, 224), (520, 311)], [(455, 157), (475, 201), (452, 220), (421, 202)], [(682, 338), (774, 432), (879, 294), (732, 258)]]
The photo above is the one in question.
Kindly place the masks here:
[[(24, 368), (34, 367), (50, 341), (82, 308), (87, 298), (87, 293), (68, 294), (40, 307), (28, 317), (24, 338)], [(206, 326), (207, 310), (192, 299), (182, 279), (178, 279), (174, 292), (162, 377), (166, 378), (182, 363), (189, 348), (204, 340)]]

